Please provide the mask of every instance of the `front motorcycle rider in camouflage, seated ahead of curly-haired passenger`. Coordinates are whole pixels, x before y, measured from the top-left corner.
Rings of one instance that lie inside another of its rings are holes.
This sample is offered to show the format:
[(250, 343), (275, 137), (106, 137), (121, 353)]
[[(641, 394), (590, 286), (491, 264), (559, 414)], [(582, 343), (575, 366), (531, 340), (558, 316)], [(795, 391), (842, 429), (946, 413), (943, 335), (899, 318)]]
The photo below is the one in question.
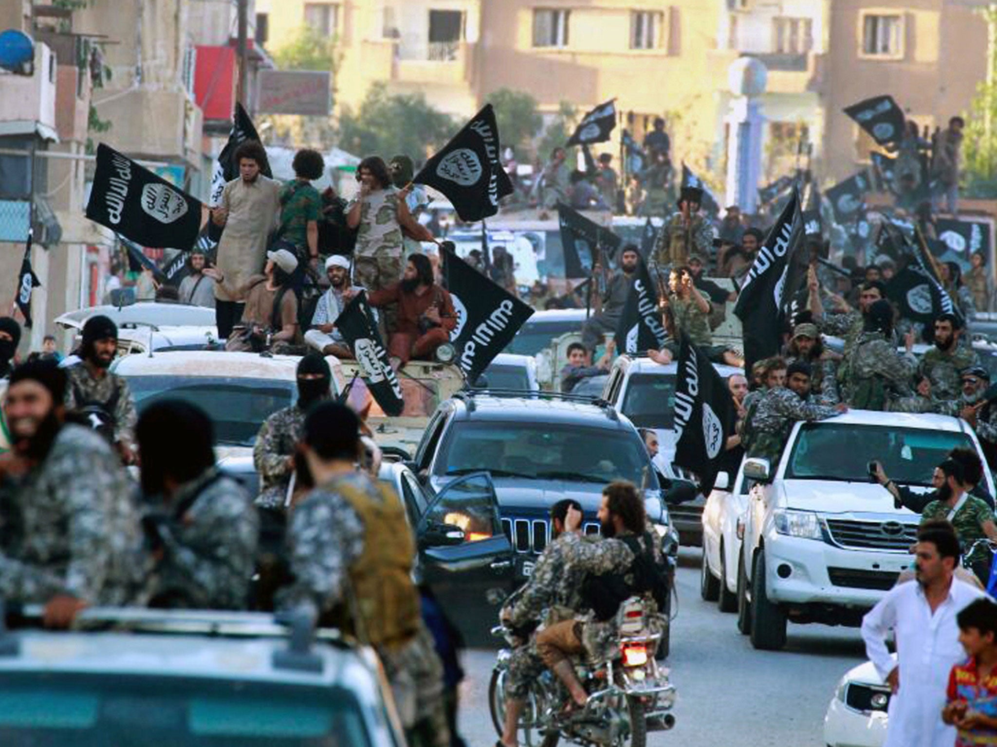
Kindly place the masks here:
[[(551, 541), (536, 561), (533, 573), (522, 590), (515, 595), (499, 615), (501, 621), (514, 630), (520, 639), (512, 650), (505, 684), (505, 722), (496, 747), (516, 747), (516, 725), (526, 705), (530, 682), (543, 671), (543, 659), (536, 650), (533, 628), (537, 622), (550, 625), (571, 620), (583, 612), (580, 591), (585, 571), (576, 562), (578, 543), (564, 531), (568, 509), (581, 511), (577, 501), (563, 498), (550, 508)], [(575, 529), (580, 537), (580, 532)], [(542, 618), (543, 612), (545, 617)]]

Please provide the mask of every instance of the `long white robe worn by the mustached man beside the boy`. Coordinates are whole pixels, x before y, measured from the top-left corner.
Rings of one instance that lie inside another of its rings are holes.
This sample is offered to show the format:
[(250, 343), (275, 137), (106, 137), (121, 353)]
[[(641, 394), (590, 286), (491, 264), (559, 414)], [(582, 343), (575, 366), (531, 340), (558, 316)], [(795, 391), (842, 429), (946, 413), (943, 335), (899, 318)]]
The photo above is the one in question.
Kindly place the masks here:
[(952, 747), (955, 727), (941, 720), (948, 674), (965, 660), (955, 616), (986, 595), (970, 584), (952, 579), (948, 597), (931, 613), (916, 581), (893, 587), (862, 619), (865, 653), (879, 675), (894, 663), (886, 650), (893, 630), (900, 667), (900, 687), (889, 700), (889, 726), (883, 747)]

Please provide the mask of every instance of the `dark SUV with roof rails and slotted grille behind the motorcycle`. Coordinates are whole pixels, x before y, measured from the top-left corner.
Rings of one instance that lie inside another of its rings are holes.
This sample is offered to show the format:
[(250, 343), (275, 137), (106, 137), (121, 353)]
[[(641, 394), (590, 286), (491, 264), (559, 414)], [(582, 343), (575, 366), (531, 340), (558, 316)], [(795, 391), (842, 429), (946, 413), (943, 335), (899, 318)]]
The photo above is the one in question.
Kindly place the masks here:
[(640, 435), (606, 402), (547, 391), (461, 391), (437, 408), (411, 466), (434, 491), (462, 475), (491, 473), (515, 582), (532, 573), (550, 539), (550, 507), (561, 498), (577, 500), (585, 532), (598, 534), (602, 489), (612, 480), (642, 485), (655, 530), (678, 545)]

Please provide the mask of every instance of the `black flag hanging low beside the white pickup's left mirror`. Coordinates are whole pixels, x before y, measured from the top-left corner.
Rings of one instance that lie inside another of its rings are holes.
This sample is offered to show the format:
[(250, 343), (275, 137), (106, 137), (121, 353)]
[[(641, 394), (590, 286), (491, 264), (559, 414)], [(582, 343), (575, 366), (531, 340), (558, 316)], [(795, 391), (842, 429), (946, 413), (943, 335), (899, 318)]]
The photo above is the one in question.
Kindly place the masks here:
[(713, 490), (723, 469), (725, 446), (734, 435), (737, 409), (727, 381), (706, 353), (680, 336), (675, 371), (674, 463), (699, 477), (700, 492)]

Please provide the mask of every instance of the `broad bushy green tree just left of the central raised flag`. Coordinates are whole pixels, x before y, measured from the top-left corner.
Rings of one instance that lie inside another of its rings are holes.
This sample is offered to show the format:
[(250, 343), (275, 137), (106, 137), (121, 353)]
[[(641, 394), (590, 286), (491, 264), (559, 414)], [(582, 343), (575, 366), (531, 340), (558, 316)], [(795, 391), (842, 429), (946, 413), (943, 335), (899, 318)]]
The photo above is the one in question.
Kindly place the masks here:
[(358, 112), (343, 107), (338, 144), (357, 155), (390, 158), (404, 153), (419, 161), (442, 147), (456, 129), (457, 124), (422, 94), (389, 95), (387, 87), (377, 83)]

